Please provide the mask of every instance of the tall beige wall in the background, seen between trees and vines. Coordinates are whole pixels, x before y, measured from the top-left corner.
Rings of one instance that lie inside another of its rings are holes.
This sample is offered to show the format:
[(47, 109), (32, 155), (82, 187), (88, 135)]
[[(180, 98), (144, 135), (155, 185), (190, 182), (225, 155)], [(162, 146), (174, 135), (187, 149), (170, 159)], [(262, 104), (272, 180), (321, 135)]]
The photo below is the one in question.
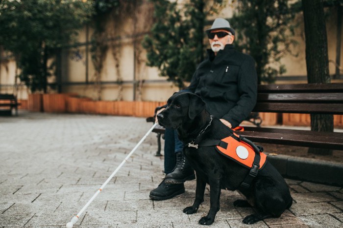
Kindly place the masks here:
[[(229, 3), (232, 1), (229, 0)], [(330, 12), (330, 17), (327, 23), (328, 34), (328, 49), (329, 60), (336, 60), (336, 12)], [(135, 9), (135, 14), (132, 16), (126, 15), (118, 18), (108, 18), (104, 21), (106, 25), (106, 38), (108, 50), (104, 53), (103, 69), (100, 73), (101, 99), (102, 100), (117, 100), (122, 98), (124, 101), (142, 100), (142, 101), (166, 101), (173, 92), (178, 89), (167, 82), (165, 78), (158, 76), (158, 70), (155, 67), (146, 65), (146, 52), (141, 45), (144, 33), (147, 33), (152, 24), (151, 4), (146, 3)], [(220, 14), (220, 17), (228, 18), (232, 16), (232, 8), (228, 5)], [(299, 14), (299, 19), (302, 21), (302, 14)], [(214, 18), (214, 17), (213, 17)], [(236, 28), (238, 29), (238, 28)], [(130, 36), (134, 31), (136, 37)], [(86, 84), (86, 41), (91, 40), (93, 31), (90, 28), (88, 39), (86, 28), (83, 29), (77, 37), (77, 42), (83, 43), (76, 48), (63, 49), (62, 51), (62, 82), (68, 83), (62, 86), (62, 91), (65, 93), (76, 93), (83, 97), (97, 99), (98, 90), (94, 86), (95, 68), (91, 61), (91, 54), (88, 56), (88, 84)], [(285, 76), (305, 76), (306, 75), (306, 60), (305, 60), (305, 41), (304, 28), (301, 24), (296, 32), (295, 39), (299, 44), (294, 48), (294, 53), (298, 56), (286, 56), (282, 59), (282, 64), (286, 65), (287, 72)], [(119, 38), (120, 39), (117, 39)], [(116, 39), (113, 39), (116, 38)], [(135, 46), (134, 46), (135, 43)], [(91, 46), (89, 45), (89, 49)], [(74, 57), (75, 51), (81, 55), (80, 60)], [(341, 53), (343, 53), (343, 45)], [(119, 62), (116, 61), (118, 57)], [(119, 65), (119, 69), (116, 68)], [(343, 57), (341, 58), (343, 65)], [(330, 74), (335, 73), (335, 65), (329, 63)], [(119, 70), (119, 71), (118, 71)], [(118, 74), (119, 72), (119, 74)], [(123, 85), (119, 86), (115, 82), (118, 81), (118, 76), (122, 77)], [(12, 59), (0, 62), (0, 92), (13, 92), (13, 84), (15, 80), (15, 62)], [(141, 81), (143, 84), (138, 84), (134, 93), (133, 81)], [(337, 82), (337, 81), (334, 81)], [(342, 82), (342, 80), (340, 81)], [(278, 81), (277, 83), (306, 83), (306, 81)], [(9, 86), (4, 86), (9, 85)], [(121, 92), (120, 92), (121, 91)], [(53, 91), (52, 91), (53, 92)], [(134, 98), (134, 94), (136, 98)], [(19, 87), (19, 99), (27, 99), (27, 89), (25, 86)]]

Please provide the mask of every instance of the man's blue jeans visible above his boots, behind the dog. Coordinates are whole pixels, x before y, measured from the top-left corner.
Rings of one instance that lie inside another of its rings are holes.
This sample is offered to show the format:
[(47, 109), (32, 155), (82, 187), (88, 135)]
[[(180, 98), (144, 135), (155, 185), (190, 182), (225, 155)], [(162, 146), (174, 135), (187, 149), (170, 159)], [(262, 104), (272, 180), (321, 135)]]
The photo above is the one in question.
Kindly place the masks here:
[(176, 165), (176, 154), (182, 152), (183, 143), (177, 136), (177, 131), (172, 128), (166, 128), (164, 134), (164, 172), (171, 173)]

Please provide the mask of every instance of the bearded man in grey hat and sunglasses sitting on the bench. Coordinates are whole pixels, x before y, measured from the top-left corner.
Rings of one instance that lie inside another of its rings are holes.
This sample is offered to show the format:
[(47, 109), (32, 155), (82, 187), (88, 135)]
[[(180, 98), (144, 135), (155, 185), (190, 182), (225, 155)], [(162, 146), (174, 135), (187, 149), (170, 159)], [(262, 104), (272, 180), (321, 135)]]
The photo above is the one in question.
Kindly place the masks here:
[[(206, 34), (211, 45), (207, 50), (208, 59), (199, 64), (187, 90), (203, 99), (209, 113), (233, 128), (246, 119), (256, 104), (255, 62), (251, 56), (234, 49), (235, 30), (225, 19), (217, 18)], [(182, 149), (176, 130), (166, 129), (166, 177), (150, 192), (151, 199), (166, 200), (182, 194), (185, 192), (183, 183), (195, 179)]]

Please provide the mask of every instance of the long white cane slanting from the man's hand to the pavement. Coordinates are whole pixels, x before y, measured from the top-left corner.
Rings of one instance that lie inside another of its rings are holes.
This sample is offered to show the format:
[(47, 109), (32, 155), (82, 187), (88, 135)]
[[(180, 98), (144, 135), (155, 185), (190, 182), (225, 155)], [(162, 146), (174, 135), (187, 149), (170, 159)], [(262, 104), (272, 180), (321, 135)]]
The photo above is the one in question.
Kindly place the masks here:
[(124, 163), (127, 161), (127, 159), (129, 159), (129, 157), (133, 154), (133, 152), (135, 152), (135, 150), (138, 148), (139, 145), (141, 145), (143, 143), (143, 141), (147, 138), (147, 136), (151, 133), (151, 131), (155, 128), (155, 126), (157, 125), (157, 123), (153, 124), (152, 127), (147, 131), (147, 134), (145, 134), (145, 136), (143, 136), (143, 138), (141, 139), (141, 141), (139, 141), (139, 143), (131, 150), (131, 152), (126, 156), (126, 158), (123, 160), (123, 162), (116, 168), (116, 170), (114, 170), (114, 172), (111, 174), (111, 176), (109, 176), (107, 178), (107, 180), (105, 181), (105, 183), (102, 184), (102, 186), (98, 189), (98, 191), (92, 196), (92, 198), (87, 202), (87, 204), (82, 207), (82, 209), (80, 210), (80, 212), (77, 213), (77, 215), (75, 215), (72, 220), (67, 223), (66, 228), (73, 228), (73, 225), (77, 222), (78, 218), (80, 217), (80, 215), (83, 213), (83, 211), (85, 211), (85, 209), (93, 202), (93, 200), (98, 196), (98, 194), (100, 193), (100, 191), (102, 191), (102, 189), (107, 185), (107, 183), (114, 177), (114, 175), (116, 175), (116, 173), (118, 172), (118, 170), (124, 165)]

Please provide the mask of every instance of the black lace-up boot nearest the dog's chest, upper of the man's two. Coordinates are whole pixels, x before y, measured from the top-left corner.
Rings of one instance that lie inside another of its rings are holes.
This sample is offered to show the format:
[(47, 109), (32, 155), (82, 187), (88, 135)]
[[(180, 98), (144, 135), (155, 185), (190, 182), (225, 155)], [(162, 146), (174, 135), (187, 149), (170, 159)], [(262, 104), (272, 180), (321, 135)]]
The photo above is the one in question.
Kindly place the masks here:
[(193, 168), (189, 165), (183, 152), (176, 153), (176, 166), (171, 173), (166, 175), (166, 183), (181, 184), (185, 181), (196, 179)]

